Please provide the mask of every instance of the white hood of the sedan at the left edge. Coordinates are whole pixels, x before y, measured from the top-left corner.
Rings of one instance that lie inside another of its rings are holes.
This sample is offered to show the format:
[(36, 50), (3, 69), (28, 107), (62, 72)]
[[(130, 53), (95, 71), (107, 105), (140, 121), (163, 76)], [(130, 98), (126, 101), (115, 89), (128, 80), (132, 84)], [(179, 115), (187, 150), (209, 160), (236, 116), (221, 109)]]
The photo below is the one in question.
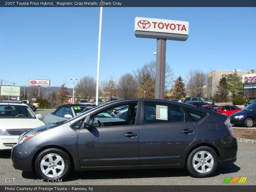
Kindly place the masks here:
[(0, 129), (34, 129), (44, 125), (39, 119), (1, 118)]

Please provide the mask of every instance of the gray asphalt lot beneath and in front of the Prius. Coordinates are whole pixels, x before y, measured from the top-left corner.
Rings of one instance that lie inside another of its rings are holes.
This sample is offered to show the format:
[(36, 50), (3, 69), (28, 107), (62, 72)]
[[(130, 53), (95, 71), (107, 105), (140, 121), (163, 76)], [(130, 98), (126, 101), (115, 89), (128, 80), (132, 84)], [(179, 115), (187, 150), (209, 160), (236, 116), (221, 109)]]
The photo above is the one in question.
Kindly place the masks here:
[(237, 161), (220, 164), (216, 174), (210, 178), (190, 177), (185, 169), (87, 171), (72, 172), (62, 183), (36, 183), (36, 179), (38, 179), (36, 174), (15, 170), (12, 167), (10, 150), (4, 150), (0, 151), (0, 185), (28, 184), (13, 183), (12, 181), (6, 183), (5, 178), (32, 179), (30, 181), (35, 183), (29, 185), (223, 185), (222, 182), (226, 177), (236, 176), (248, 177), (245, 184), (255, 185), (255, 149), (254, 144), (238, 143)]

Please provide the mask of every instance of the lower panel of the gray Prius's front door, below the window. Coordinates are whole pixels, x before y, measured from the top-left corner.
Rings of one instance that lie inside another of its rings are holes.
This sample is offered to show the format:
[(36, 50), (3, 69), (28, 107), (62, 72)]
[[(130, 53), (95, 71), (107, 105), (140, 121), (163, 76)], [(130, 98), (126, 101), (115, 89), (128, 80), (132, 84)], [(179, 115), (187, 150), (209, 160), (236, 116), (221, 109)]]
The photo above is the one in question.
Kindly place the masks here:
[(81, 128), (78, 156), (82, 167), (139, 165), (139, 126)]

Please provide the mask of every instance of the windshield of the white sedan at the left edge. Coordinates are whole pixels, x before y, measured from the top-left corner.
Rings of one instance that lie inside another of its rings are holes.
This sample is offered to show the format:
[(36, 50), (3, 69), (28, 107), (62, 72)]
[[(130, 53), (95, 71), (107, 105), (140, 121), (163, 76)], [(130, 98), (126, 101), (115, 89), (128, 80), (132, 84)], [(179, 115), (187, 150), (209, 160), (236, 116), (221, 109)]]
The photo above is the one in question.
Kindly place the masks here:
[(28, 106), (0, 105), (0, 118), (35, 119), (36, 116)]

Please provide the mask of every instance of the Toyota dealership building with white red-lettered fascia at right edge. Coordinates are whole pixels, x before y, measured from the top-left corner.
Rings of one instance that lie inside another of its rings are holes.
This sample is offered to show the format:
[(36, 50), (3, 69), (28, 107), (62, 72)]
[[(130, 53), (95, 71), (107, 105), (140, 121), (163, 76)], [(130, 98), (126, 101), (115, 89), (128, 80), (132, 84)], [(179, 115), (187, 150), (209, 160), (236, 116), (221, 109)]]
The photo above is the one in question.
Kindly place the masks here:
[(242, 75), (244, 97), (256, 99), (256, 73)]

